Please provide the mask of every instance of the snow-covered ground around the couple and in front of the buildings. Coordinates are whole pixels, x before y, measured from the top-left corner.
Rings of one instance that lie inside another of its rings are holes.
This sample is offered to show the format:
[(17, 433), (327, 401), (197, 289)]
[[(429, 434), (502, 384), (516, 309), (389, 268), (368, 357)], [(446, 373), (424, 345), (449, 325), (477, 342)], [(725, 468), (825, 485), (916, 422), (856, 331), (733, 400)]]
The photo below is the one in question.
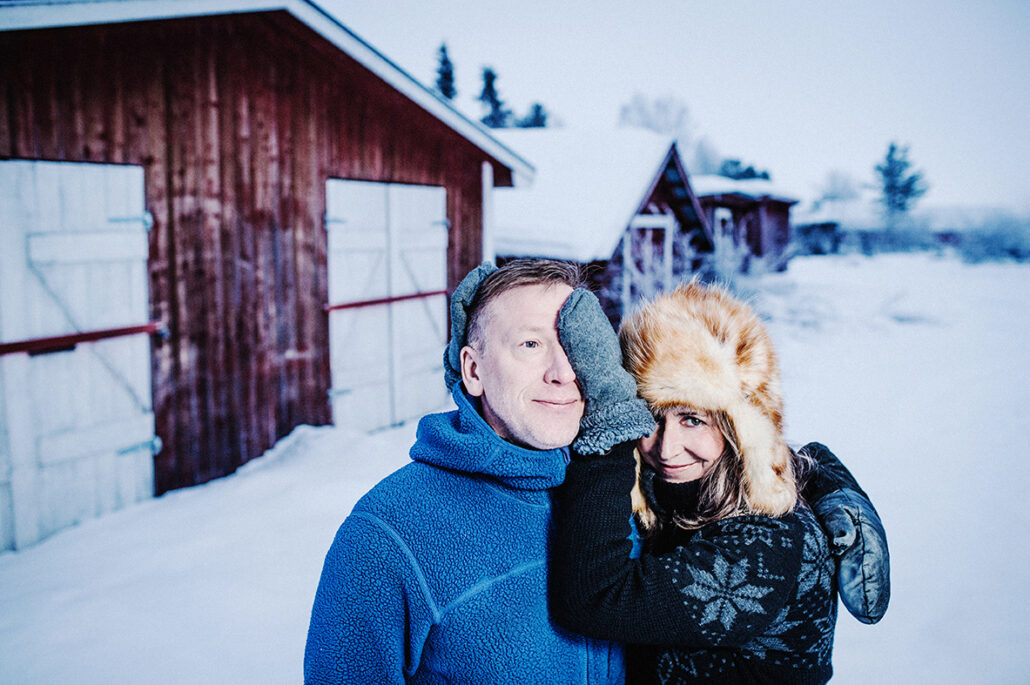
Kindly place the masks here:
[[(1030, 682), (1030, 267), (806, 258), (761, 281), (788, 432), (876, 502), (886, 618), (836, 683)], [(0, 554), (0, 682), (296, 683), (333, 534), (414, 424), (298, 429), (236, 475)]]

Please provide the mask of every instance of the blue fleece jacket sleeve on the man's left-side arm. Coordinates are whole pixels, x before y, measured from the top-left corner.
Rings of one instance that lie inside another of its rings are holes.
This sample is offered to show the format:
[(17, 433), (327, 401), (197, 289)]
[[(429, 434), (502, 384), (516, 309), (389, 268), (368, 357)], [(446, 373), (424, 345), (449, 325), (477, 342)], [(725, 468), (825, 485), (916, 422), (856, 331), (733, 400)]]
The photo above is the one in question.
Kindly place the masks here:
[(404, 683), (433, 624), (424, 578), (390, 526), (355, 512), (325, 556), (304, 653), (307, 685)]

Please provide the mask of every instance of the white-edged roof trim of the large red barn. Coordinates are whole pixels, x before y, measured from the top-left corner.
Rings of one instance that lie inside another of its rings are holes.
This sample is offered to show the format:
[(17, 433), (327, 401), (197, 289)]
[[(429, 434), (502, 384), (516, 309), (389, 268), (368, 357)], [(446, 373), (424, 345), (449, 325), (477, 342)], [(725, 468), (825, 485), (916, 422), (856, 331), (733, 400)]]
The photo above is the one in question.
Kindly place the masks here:
[(311, 0), (5, 0), (0, 31), (160, 21), (241, 12), (286, 11), (356, 60), (433, 116), (512, 170), (516, 185), (530, 181), (534, 167), (422, 85)]

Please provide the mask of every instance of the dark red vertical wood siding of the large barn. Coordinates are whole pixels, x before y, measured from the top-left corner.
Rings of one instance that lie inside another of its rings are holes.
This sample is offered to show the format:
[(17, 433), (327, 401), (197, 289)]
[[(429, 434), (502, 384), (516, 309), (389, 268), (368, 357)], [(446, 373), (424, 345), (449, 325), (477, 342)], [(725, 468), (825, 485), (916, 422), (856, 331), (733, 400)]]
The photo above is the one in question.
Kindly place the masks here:
[(446, 186), (479, 263), (490, 160), (285, 13), (0, 33), (0, 158), (144, 168), (159, 493), (330, 420), (327, 178)]

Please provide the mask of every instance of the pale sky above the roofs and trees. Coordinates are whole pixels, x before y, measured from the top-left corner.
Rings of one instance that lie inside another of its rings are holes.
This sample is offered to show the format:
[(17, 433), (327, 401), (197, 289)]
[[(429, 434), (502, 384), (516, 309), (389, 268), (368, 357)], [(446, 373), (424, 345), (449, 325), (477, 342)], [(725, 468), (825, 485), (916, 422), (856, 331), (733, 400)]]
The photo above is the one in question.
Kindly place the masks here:
[(516, 113), (566, 127), (671, 96), (695, 139), (802, 199), (831, 170), (872, 183), (895, 140), (923, 206), (1030, 212), (1030, 0), (316, 1), (426, 85), (446, 42), (466, 103), (484, 66)]

